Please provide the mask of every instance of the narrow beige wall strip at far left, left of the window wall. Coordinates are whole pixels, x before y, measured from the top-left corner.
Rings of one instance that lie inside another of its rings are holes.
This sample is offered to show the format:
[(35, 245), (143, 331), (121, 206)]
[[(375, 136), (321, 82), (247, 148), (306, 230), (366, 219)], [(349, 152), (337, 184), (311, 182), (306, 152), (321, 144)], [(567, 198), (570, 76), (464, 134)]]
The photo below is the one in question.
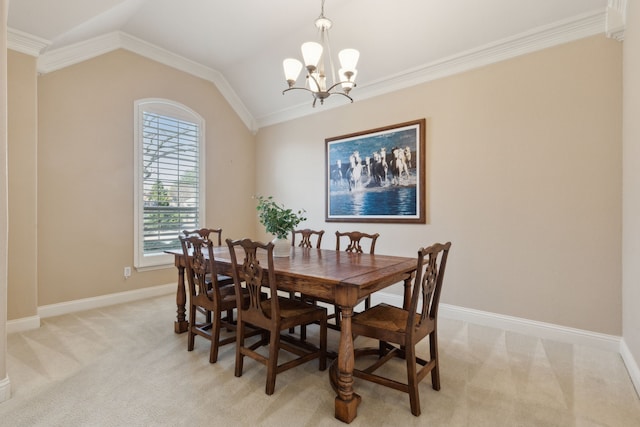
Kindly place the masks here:
[(8, 318), (35, 316), (37, 265), (37, 73), (32, 56), (7, 51), (9, 86)]

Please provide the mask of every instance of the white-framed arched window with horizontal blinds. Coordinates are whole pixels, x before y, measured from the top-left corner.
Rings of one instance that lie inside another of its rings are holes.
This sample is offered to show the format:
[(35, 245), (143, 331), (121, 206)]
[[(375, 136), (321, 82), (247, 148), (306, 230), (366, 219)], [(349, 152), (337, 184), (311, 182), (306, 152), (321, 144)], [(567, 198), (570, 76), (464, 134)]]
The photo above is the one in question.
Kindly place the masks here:
[(135, 102), (134, 266), (173, 263), (182, 230), (204, 216), (204, 120), (166, 99)]

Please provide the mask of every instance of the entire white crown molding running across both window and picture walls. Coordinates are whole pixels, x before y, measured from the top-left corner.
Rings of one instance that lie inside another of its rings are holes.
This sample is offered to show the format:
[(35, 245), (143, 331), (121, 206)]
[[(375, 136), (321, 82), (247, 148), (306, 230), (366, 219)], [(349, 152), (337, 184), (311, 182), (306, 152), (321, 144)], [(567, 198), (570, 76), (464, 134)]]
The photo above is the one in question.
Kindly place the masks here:
[[(620, 22), (624, 22), (626, 4), (627, 0), (609, 0), (606, 11), (594, 11), (578, 15), (479, 46), (384, 79), (358, 85), (357, 100), (373, 98), (592, 35), (605, 32), (609, 34), (609, 30), (612, 31), (612, 35), (618, 35), (619, 37), (620, 34), (624, 34), (623, 28), (622, 33), (620, 32)], [(616, 28), (617, 30), (614, 31)], [(11, 40), (16, 46), (21, 46), (21, 51), (27, 50), (36, 56), (42, 49), (50, 45), (50, 42), (46, 40), (30, 37), (18, 31), (13, 31), (13, 36), (10, 35), (10, 42)], [(38, 71), (41, 73), (52, 72), (116, 49), (132, 51), (212, 82), (238, 114), (245, 126), (254, 134), (261, 127), (317, 112), (317, 110), (310, 109), (305, 102), (276, 111), (273, 114), (254, 118), (219, 71), (122, 32), (109, 33), (74, 45), (46, 51), (38, 57)], [(19, 49), (16, 48), (16, 50)], [(323, 109), (338, 107), (345, 107), (345, 104), (336, 103), (332, 105), (331, 103), (325, 103)]]

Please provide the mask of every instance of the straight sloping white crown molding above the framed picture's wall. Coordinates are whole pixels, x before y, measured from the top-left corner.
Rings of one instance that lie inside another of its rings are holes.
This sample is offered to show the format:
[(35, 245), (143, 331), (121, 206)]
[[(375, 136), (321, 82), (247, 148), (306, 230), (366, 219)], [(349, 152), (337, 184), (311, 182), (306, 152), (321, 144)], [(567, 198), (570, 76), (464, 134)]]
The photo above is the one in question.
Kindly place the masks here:
[[(605, 20), (606, 13), (604, 11), (593, 11), (577, 15), (406, 70), (402, 73), (385, 77), (384, 79), (369, 82), (364, 85), (358, 84), (357, 93), (354, 93), (355, 102), (459, 74), (474, 68), (515, 58), (570, 41), (602, 34), (605, 29)], [(343, 107), (345, 105), (348, 104), (339, 103), (331, 105), (325, 102), (323, 109)], [(260, 128), (270, 126), (304, 117), (314, 112), (315, 111), (309, 108), (308, 103), (298, 104), (286, 110), (258, 117), (258, 126)]]

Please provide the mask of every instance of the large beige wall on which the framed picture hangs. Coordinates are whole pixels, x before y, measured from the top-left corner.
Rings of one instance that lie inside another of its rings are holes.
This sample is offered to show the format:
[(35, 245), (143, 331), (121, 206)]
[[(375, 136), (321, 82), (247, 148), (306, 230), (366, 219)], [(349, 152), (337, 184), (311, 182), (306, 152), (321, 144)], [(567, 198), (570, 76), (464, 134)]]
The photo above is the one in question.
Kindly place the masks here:
[[(337, 229), (380, 232), (388, 254), (451, 240), (445, 303), (620, 335), (621, 55), (603, 35), (369, 100), (355, 90), (259, 131), (257, 192), (306, 209), (326, 247)], [(325, 223), (324, 139), (422, 117), (427, 224)]]

